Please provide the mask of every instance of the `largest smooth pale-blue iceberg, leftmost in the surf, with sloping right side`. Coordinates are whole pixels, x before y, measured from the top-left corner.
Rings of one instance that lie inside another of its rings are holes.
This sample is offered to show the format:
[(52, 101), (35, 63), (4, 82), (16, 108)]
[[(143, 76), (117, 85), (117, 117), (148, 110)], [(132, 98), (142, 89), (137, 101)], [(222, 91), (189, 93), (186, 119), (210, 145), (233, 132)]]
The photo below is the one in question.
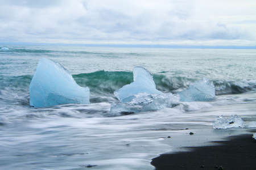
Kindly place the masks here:
[(30, 105), (89, 104), (90, 90), (80, 87), (60, 63), (42, 58), (30, 83)]

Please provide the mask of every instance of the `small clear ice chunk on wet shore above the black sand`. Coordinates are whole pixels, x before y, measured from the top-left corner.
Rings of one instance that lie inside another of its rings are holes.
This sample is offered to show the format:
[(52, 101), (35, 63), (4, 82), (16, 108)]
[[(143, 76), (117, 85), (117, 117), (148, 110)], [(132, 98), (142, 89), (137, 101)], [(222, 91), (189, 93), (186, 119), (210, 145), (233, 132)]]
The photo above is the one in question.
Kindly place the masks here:
[(232, 115), (230, 118), (220, 116), (213, 122), (214, 129), (238, 128), (242, 127), (242, 125), (243, 121), (237, 114)]

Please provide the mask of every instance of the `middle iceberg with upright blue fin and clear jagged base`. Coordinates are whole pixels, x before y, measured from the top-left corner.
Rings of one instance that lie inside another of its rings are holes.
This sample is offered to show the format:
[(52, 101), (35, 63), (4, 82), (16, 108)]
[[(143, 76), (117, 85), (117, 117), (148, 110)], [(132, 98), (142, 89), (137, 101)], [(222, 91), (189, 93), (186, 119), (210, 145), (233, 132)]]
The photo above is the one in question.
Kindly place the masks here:
[(171, 93), (163, 94), (156, 90), (153, 76), (144, 67), (134, 67), (133, 75), (134, 82), (114, 91), (114, 95), (117, 96), (121, 103), (112, 104), (110, 108), (112, 116), (116, 113), (126, 115), (156, 111), (169, 107), (172, 101), (177, 100), (177, 97)]

